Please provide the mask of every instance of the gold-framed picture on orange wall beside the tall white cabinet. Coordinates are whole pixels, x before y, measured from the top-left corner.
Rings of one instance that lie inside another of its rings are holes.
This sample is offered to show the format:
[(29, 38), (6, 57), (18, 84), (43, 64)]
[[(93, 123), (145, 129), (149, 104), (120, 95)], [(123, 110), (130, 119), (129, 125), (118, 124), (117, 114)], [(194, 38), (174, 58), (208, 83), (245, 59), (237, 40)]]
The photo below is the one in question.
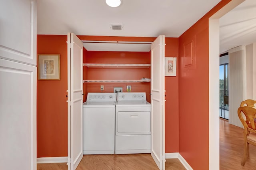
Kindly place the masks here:
[(39, 80), (60, 80), (60, 55), (38, 54), (37, 72)]

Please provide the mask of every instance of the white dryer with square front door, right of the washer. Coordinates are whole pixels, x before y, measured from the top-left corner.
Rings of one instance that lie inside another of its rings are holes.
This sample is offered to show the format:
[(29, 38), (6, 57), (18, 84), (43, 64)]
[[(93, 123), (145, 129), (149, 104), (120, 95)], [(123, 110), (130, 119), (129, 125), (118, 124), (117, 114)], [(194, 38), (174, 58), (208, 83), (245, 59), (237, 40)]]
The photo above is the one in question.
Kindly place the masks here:
[(151, 152), (151, 105), (146, 93), (118, 93), (116, 154)]

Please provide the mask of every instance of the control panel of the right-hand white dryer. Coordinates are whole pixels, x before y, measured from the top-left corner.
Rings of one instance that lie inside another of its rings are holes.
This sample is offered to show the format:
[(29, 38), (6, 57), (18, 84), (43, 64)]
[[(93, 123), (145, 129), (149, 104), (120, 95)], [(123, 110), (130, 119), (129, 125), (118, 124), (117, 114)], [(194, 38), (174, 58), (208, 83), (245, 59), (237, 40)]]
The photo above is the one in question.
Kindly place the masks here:
[(146, 101), (146, 92), (118, 93), (118, 101)]

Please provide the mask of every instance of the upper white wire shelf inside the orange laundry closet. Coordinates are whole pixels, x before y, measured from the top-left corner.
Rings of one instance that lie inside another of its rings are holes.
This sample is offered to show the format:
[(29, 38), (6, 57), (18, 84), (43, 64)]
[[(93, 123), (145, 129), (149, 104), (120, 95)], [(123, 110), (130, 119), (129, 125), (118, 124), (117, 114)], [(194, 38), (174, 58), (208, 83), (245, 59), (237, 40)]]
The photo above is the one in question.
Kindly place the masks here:
[(121, 68), (149, 68), (150, 64), (106, 64), (106, 63), (84, 63), (87, 67), (121, 67)]

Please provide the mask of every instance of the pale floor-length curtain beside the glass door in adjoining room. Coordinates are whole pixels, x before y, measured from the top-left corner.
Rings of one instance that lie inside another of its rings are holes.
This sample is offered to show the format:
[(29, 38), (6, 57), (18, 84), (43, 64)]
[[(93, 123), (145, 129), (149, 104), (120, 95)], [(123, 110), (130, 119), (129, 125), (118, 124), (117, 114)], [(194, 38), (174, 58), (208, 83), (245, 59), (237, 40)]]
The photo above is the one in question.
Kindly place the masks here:
[(237, 109), (240, 103), (246, 99), (246, 47), (238, 46), (228, 50), (229, 55), (229, 123), (243, 127), (240, 122)]

